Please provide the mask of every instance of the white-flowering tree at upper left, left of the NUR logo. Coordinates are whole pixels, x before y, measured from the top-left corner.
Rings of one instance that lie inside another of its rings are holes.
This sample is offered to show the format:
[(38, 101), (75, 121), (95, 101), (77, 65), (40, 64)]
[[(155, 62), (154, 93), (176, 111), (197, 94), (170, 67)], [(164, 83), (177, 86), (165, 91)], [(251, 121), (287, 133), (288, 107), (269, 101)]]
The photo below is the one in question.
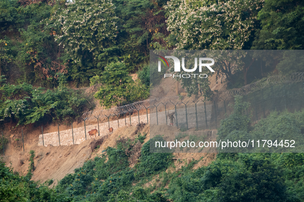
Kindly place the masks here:
[(76, 69), (100, 67), (107, 49), (115, 43), (114, 9), (111, 0), (75, 0), (54, 8), (51, 17), (43, 23), (59, 46), (63, 45)]

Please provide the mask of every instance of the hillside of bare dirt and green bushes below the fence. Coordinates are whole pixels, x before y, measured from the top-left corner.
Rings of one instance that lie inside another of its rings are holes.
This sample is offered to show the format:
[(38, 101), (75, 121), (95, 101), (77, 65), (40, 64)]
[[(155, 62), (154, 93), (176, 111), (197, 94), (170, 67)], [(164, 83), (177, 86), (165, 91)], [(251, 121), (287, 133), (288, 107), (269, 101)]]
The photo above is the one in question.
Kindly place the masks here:
[[(225, 118), (219, 127), (217, 140), (239, 138), (244, 134), (263, 138), (265, 133), (269, 136), (278, 131), (278, 138), (290, 133), (294, 137), (303, 135), (303, 111), (272, 112), (255, 125), (252, 125), (249, 116), (243, 115), (245, 111), (246, 104), (238, 98), (233, 114)], [(243, 124), (246, 122), (249, 125)], [(285, 127), (276, 124), (278, 122)], [(180, 133), (172, 126), (158, 127), (151, 126), (160, 134), (164, 133), (164, 137), (156, 137), (160, 141), (170, 133)], [(216, 137), (215, 131), (202, 132), (211, 134), (211, 138)], [(150, 135), (148, 125), (139, 125), (120, 128), (96, 142), (87, 140), (77, 146), (35, 147), (33, 149), (37, 153), (32, 156), (38, 157), (33, 159), (33, 176), (31, 172), (24, 177), (19, 176), (1, 163), (0, 175), (11, 180), (2, 180), (4, 189), (0, 189), (0, 194), (34, 201), (42, 196), (50, 201), (96, 202), (183, 202), (190, 198), (194, 201), (231, 201), (231, 197), (236, 201), (300, 202), (304, 199), (302, 153), (220, 153), (217, 156), (216, 153), (153, 153), (150, 152), (153, 140), (149, 139)], [(93, 147), (91, 143), (94, 143)], [(24, 152), (14, 153), (10, 159), (13, 164), (17, 163), (14, 158), (29, 156)], [(20, 171), (26, 171), (25, 166), (21, 166)], [(76, 169), (73, 171), (72, 167)], [(53, 171), (55, 174), (52, 174)], [(40, 185), (30, 181), (30, 178), (61, 180), (46, 180), (44, 185)], [(19, 190), (22, 184), (28, 187), (25, 195), (23, 192), (10, 194), (5, 191)]]

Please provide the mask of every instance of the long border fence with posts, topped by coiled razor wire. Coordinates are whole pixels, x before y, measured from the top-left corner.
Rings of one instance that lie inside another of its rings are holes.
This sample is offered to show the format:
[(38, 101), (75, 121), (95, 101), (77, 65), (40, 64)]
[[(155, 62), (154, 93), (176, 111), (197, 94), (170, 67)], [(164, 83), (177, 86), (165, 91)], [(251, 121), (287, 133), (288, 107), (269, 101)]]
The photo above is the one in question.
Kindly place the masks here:
[[(57, 132), (44, 134), (41, 127), (41, 145), (46, 146), (47, 135), (48, 138), (56, 135), (58, 145), (80, 144), (87, 139), (86, 133), (92, 127), (98, 127), (98, 135), (104, 135), (107, 127), (119, 128), (141, 122), (168, 125), (168, 113), (174, 113), (174, 125), (178, 128), (216, 129), (220, 126), (221, 120), (233, 112), (233, 108), (229, 106), (234, 104), (234, 96), (236, 95), (242, 95), (243, 100), (251, 104), (246, 113), (251, 115), (252, 122), (266, 117), (274, 110), (288, 110), (290, 112), (301, 110), (304, 105), (304, 72), (294, 73), (288, 77), (271, 76), (266, 80), (262, 79), (239, 89), (220, 91), (215, 93), (210, 100), (180, 96), (158, 97), (121, 107), (100, 111), (93, 110), (82, 115), (84, 130), (73, 129), (72, 123), (69, 130), (60, 131), (58, 125)], [(102, 119), (105, 121), (102, 121)], [(101, 123), (99, 120), (101, 120)], [(97, 122), (97, 124), (94, 126), (86, 125), (86, 122), (92, 121)], [(100, 132), (101, 126), (103, 134)], [(23, 135), (22, 131), (24, 150)], [(60, 137), (62, 135), (70, 139), (68, 140), (69, 144), (61, 144)], [(4, 145), (4, 137), (2, 138), (2, 145)]]

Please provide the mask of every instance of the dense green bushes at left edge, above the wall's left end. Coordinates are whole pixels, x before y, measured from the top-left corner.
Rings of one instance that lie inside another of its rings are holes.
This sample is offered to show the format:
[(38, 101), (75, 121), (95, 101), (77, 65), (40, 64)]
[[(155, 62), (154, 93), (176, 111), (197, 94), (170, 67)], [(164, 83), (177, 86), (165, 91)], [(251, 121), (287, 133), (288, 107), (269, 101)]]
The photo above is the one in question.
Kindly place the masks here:
[(75, 119), (91, 107), (81, 92), (68, 89), (64, 84), (53, 91), (33, 88), (26, 83), (16, 86), (3, 84), (0, 95), (1, 120), (17, 122), (17, 125), (43, 119)]

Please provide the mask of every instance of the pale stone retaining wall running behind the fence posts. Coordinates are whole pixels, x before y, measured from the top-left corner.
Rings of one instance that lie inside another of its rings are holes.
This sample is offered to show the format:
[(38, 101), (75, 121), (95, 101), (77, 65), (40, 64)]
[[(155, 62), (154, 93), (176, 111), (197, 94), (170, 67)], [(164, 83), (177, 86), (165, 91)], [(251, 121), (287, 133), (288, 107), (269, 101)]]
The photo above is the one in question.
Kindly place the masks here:
[[(168, 109), (168, 113), (175, 112), (174, 109)], [(197, 114), (196, 114), (196, 113)], [(214, 112), (212, 110), (212, 105), (206, 105), (206, 114), (205, 114), (205, 107), (198, 105), (195, 109), (195, 107), (192, 105), (189, 105), (187, 107), (187, 116), (186, 116), (186, 109), (183, 106), (179, 106), (176, 109), (177, 113), (177, 122), (178, 122), (178, 128), (186, 128), (187, 123), (188, 123), (188, 128), (195, 128), (196, 127), (196, 117), (197, 117), (197, 123), (198, 127), (201, 129), (207, 129), (204, 128), (206, 126), (206, 118), (207, 118), (207, 124), (208, 128), (212, 125), (214, 120), (212, 119), (212, 116), (214, 116)], [(196, 116), (197, 115), (197, 116)], [(176, 126), (176, 114), (175, 116), (175, 123), (174, 126)], [(156, 115), (156, 110), (155, 108), (150, 109), (150, 114), (148, 114), (149, 118), (149, 124), (154, 124), (154, 125), (169, 125), (170, 120), (166, 119), (166, 113), (165, 111), (162, 110), (157, 110), (157, 115)], [(139, 120), (142, 123), (147, 123), (147, 114), (140, 115)], [(125, 121), (124, 118), (119, 119), (119, 126), (123, 127), (125, 126)], [(130, 124), (130, 119), (127, 117), (127, 124)], [(133, 116), (131, 117), (131, 125), (136, 126), (138, 124), (138, 116)], [(214, 125), (214, 124), (213, 124)], [(118, 123), (117, 120), (113, 120), (110, 122), (110, 127), (113, 128), (115, 131), (118, 128)], [(85, 132), (86, 132), (86, 139), (90, 138), (90, 135), (88, 135), (88, 131), (92, 129), (97, 129), (98, 130), (98, 124), (95, 125), (90, 125), (86, 126), (85, 129), (84, 127), (80, 128), (74, 128), (73, 129), (73, 135), (74, 135), (74, 144), (81, 144), (85, 140)], [(104, 136), (106, 134), (109, 134), (109, 123), (100, 123), (99, 124), (99, 132), (100, 136)], [(85, 130), (85, 131), (84, 131)], [(44, 139), (44, 146), (47, 145), (52, 145), (52, 146), (59, 146), (59, 138), (60, 138), (60, 145), (73, 145), (73, 135), (72, 135), (72, 130), (63, 130), (58, 132), (52, 132), (52, 133), (46, 133), (43, 135)], [(39, 135), (39, 146), (43, 146), (43, 140), (42, 140), (42, 134)]]

